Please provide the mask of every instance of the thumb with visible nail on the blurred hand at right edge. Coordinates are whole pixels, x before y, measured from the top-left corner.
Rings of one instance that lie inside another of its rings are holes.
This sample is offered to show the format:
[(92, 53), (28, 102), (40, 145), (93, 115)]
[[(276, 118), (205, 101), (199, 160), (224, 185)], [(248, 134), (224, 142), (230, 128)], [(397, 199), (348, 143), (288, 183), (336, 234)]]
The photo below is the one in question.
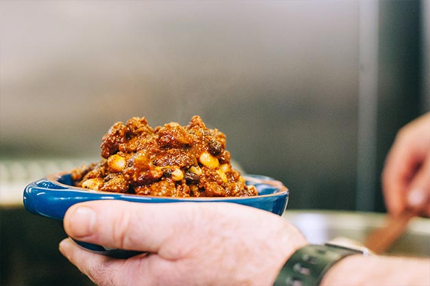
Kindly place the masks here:
[(408, 189), (407, 205), (409, 209), (430, 216), (430, 155), (416, 172)]

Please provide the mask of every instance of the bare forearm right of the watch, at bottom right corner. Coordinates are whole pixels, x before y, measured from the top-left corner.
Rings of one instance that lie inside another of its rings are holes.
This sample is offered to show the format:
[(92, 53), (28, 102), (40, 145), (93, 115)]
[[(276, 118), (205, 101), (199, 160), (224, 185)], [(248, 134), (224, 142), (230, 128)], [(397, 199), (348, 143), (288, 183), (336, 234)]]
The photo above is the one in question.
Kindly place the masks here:
[(320, 286), (430, 285), (430, 259), (353, 255), (333, 265)]

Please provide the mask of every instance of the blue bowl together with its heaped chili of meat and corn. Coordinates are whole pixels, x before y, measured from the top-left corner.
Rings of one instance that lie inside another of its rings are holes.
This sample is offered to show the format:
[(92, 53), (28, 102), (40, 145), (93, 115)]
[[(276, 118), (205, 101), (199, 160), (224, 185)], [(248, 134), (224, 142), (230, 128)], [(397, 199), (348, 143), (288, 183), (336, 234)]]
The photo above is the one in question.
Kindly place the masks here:
[[(67, 209), (88, 200), (136, 203), (223, 202), (279, 216), (288, 189), (271, 177), (241, 174), (231, 166), (225, 135), (208, 129), (199, 116), (186, 126), (149, 127), (145, 118), (115, 123), (102, 138), (101, 161), (49, 174), (27, 185), (27, 211), (62, 220)], [(77, 242), (111, 257), (136, 252)]]

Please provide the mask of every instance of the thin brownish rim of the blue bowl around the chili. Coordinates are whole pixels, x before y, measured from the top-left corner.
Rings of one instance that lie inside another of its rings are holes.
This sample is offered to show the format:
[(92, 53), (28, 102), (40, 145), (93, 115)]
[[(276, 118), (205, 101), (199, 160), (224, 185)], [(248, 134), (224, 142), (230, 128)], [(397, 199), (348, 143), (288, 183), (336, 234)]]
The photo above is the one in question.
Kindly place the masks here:
[[(100, 194), (100, 195), (110, 195), (110, 196), (130, 196), (131, 198), (151, 198), (151, 199), (163, 199), (163, 200), (181, 200), (181, 201), (205, 201), (205, 200), (249, 200), (249, 199), (255, 199), (255, 198), (267, 198), (271, 196), (288, 196), (290, 194), (290, 190), (288, 190), (288, 187), (283, 185), (281, 181), (277, 181), (276, 179), (273, 179), (271, 177), (267, 177), (264, 175), (254, 175), (254, 174), (242, 174), (242, 177), (247, 182), (251, 182), (251, 185), (255, 185), (258, 183), (264, 184), (264, 185), (270, 185), (272, 187), (276, 187), (278, 189), (278, 192), (275, 192), (273, 194), (264, 194), (264, 195), (257, 195), (257, 196), (206, 196), (206, 197), (173, 197), (173, 196), (140, 196), (138, 194), (127, 194), (127, 193), (116, 193), (116, 192), (104, 192), (104, 191), (95, 191), (95, 190), (89, 190), (85, 189), (84, 187), (76, 187), (73, 185), (67, 185), (65, 183), (61, 183), (58, 181), (61, 177), (71, 174), (71, 170), (64, 170), (60, 172), (55, 172), (52, 174), (48, 174), (46, 176), (46, 181), (50, 181), (51, 183), (55, 185), (59, 185), (62, 187), (62, 189), (51, 189), (50, 190), (57, 190), (57, 191), (73, 191), (73, 192), (83, 192), (83, 193), (90, 193), (90, 194)], [(253, 177), (256, 176), (256, 177)], [(260, 179), (264, 178), (264, 179)]]

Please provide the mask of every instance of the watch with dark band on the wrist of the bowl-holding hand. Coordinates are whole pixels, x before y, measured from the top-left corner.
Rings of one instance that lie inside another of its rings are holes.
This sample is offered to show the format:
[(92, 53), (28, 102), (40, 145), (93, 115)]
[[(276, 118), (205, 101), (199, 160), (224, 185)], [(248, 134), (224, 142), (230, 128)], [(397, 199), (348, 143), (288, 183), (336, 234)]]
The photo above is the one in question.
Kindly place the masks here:
[(371, 252), (357, 243), (351, 244), (351, 240), (303, 246), (283, 265), (274, 286), (318, 286), (331, 266), (344, 257), (357, 254), (370, 255)]

